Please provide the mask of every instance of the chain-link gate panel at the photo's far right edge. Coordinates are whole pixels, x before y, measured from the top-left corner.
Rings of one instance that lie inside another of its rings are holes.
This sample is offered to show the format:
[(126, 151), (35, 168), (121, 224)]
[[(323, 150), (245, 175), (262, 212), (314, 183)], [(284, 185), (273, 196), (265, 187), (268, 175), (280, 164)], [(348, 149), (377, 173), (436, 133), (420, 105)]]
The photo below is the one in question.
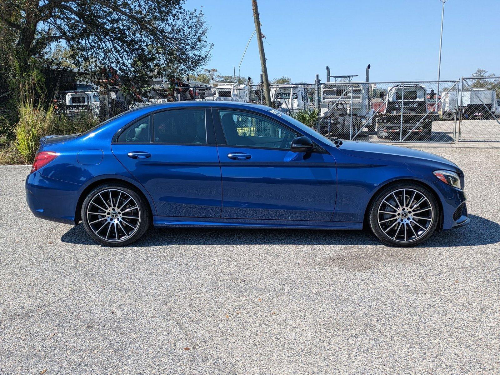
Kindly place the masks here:
[(458, 140), (500, 141), (500, 77), (467, 77), (447, 100), (458, 117)]

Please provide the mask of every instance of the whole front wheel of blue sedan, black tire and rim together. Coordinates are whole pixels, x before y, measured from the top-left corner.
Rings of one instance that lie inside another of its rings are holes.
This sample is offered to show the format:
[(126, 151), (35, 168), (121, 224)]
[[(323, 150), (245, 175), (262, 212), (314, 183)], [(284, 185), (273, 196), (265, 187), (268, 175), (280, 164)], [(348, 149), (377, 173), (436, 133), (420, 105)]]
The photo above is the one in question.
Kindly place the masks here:
[[(413, 191), (416, 191), (414, 195)], [(391, 193), (394, 193), (399, 205), (395, 203)], [(414, 206), (422, 197), (425, 200)], [(396, 209), (386, 208), (389, 207), (386, 203), (392, 204)], [(415, 213), (422, 216), (416, 216)], [(439, 205), (434, 195), (417, 182), (399, 182), (383, 187), (368, 206), (371, 230), (378, 239), (391, 246), (411, 247), (425, 241), (437, 227), (439, 217)]]

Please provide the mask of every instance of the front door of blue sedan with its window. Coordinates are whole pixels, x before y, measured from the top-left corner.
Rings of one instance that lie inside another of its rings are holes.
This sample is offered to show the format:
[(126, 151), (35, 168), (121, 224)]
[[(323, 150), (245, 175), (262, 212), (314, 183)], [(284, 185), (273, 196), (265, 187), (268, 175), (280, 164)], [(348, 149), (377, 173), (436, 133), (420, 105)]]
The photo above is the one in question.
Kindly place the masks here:
[[(264, 115), (214, 110), (224, 218), (329, 221), (336, 169), (326, 152), (291, 152), (297, 134)], [(219, 131), (220, 133), (220, 131)]]

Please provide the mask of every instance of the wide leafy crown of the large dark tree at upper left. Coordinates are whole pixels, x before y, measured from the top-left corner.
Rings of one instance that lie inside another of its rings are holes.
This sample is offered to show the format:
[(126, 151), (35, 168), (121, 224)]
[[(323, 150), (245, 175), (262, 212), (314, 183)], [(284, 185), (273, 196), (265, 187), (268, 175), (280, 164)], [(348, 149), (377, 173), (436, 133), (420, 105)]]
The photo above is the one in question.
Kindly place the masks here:
[[(201, 10), (183, 0), (3, 0), (0, 27), (14, 36), (20, 70), (33, 57), (48, 58), (54, 45), (95, 77), (109, 70), (138, 84), (158, 76), (195, 71), (209, 57)], [(104, 73), (104, 74), (103, 74)]]

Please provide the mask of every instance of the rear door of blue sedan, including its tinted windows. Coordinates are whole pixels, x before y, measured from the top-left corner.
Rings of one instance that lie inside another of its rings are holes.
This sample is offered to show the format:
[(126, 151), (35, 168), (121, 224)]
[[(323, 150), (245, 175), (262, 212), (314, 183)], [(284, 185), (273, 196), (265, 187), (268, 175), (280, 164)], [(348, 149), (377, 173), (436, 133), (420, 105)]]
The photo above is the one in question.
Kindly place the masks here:
[(176, 108), (142, 117), (112, 151), (151, 194), (159, 216), (220, 217), (220, 165), (210, 110)]

